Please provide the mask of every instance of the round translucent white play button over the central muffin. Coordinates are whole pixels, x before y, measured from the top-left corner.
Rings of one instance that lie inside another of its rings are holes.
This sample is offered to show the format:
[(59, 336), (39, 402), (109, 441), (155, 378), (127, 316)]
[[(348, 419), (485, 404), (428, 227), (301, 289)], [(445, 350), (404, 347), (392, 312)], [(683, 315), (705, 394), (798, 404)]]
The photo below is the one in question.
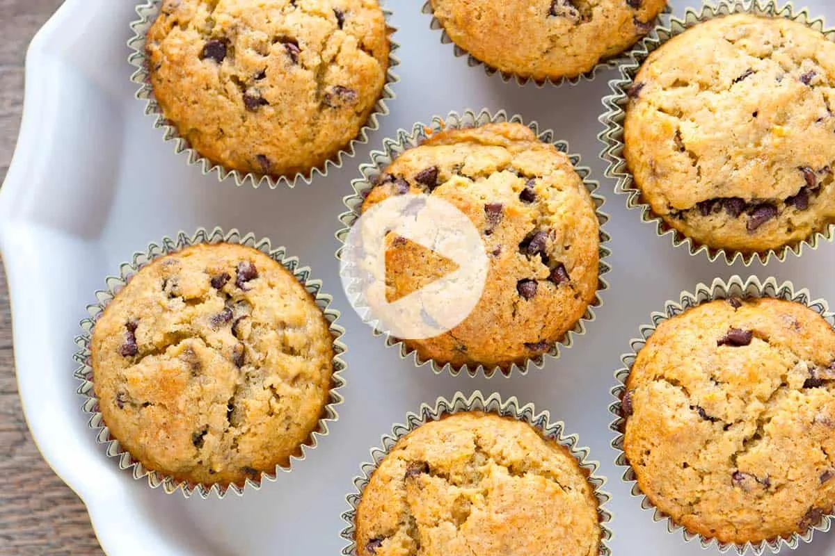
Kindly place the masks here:
[(473, 311), (489, 261), (473, 223), (423, 194), (390, 197), (347, 235), (342, 287), (365, 323), (400, 339), (433, 338)]

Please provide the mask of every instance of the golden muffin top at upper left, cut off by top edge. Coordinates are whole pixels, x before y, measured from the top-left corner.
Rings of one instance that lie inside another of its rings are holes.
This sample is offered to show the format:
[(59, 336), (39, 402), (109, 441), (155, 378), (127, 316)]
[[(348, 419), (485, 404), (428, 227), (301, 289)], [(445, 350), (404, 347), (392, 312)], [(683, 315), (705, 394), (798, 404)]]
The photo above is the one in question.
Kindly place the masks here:
[(376, 0), (163, 0), (146, 50), (154, 96), (192, 148), (292, 177), (357, 137), (389, 42)]

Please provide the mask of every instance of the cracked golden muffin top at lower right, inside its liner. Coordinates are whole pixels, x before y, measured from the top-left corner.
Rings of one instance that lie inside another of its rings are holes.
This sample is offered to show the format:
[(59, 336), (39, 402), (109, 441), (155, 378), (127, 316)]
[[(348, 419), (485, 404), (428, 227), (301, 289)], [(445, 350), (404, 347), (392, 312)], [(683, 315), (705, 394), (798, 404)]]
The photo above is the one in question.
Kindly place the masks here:
[(802, 533), (835, 503), (835, 331), (800, 303), (704, 303), (638, 353), (624, 448), (662, 512), (724, 543)]

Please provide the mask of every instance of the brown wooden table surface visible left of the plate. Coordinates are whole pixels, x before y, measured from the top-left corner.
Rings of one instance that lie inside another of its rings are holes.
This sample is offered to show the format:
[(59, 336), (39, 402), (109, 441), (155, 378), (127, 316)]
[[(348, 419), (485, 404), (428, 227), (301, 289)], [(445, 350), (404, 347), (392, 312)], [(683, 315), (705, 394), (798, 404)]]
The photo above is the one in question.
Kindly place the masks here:
[[(18, 138), (26, 48), (60, 4), (0, 0), (0, 183)], [(0, 267), (0, 554), (101, 553), (83, 503), (43, 461), (23, 420), (8, 288)]]

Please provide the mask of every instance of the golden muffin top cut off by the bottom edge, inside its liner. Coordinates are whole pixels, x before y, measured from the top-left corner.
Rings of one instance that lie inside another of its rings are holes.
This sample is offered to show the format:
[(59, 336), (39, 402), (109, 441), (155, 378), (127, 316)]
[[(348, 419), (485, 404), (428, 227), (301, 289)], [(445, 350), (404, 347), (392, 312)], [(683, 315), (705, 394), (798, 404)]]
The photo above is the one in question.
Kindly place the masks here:
[(588, 472), (528, 423), (480, 412), (401, 438), (362, 493), (356, 526), (357, 556), (600, 553)]

